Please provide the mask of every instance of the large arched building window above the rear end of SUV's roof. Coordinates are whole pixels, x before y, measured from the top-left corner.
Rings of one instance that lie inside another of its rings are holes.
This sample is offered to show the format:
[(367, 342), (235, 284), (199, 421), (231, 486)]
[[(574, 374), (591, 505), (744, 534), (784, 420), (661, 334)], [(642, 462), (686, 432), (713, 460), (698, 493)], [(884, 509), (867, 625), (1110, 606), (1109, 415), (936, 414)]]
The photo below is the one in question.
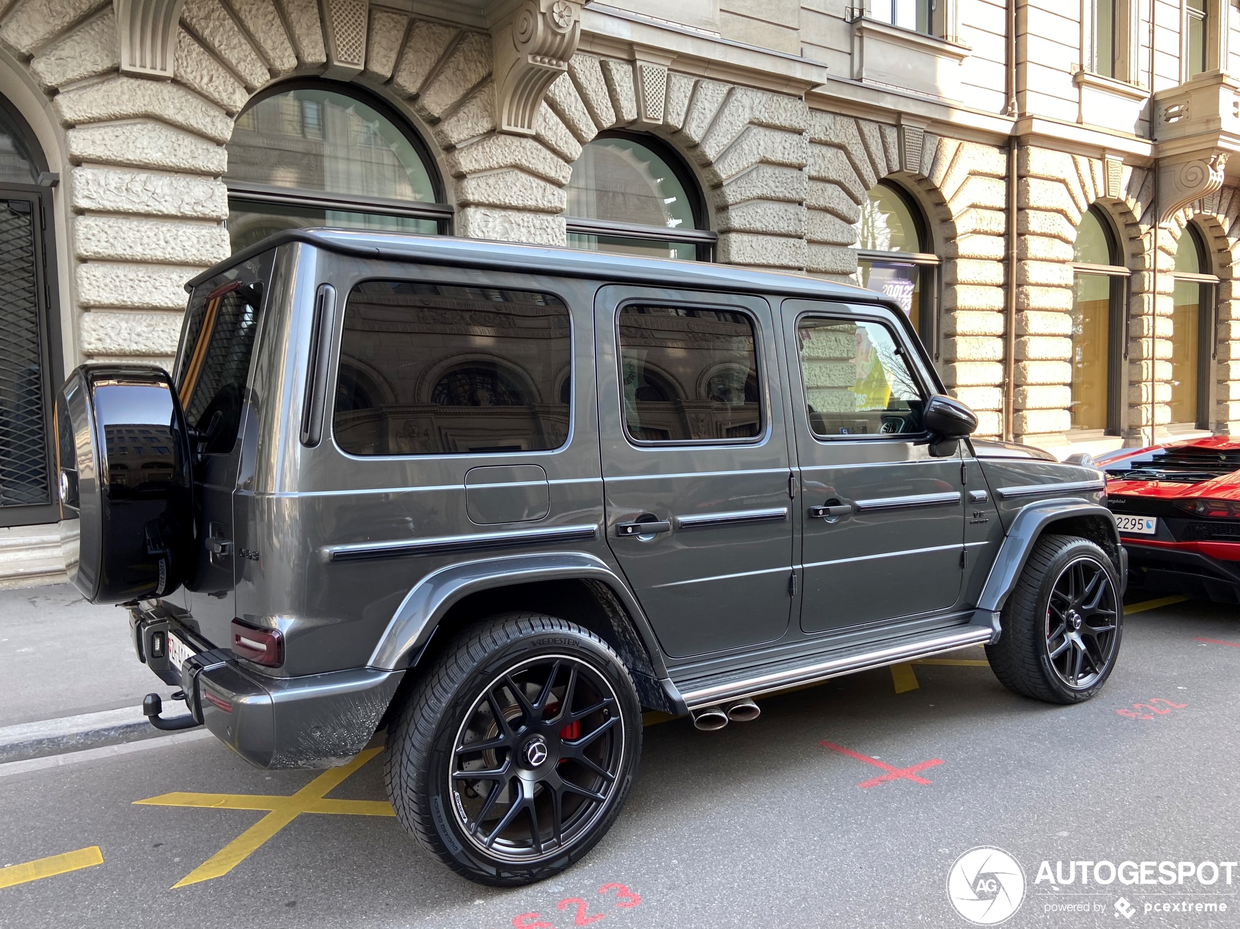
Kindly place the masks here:
[(228, 142), (233, 250), (280, 229), (444, 233), (451, 208), (418, 135), (379, 100), (327, 82), (255, 97)]

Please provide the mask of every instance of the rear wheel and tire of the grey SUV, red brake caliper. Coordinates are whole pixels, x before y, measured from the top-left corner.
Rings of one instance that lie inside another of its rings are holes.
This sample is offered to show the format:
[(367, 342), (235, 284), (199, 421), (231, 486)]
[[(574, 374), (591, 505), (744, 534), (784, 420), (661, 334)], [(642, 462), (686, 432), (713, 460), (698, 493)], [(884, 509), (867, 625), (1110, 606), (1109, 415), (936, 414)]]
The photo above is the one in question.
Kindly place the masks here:
[(564, 619), (508, 613), (427, 669), (389, 730), (384, 777), (428, 852), (515, 887), (559, 873), (606, 834), (640, 753), (641, 704), (616, 653)]

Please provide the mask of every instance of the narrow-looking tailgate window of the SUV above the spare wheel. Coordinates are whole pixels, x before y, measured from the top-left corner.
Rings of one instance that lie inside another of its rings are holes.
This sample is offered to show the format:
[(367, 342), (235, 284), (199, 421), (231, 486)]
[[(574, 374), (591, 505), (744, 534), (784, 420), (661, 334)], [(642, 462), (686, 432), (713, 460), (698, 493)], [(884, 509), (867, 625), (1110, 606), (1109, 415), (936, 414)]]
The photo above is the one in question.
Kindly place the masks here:
[(242, 394), (258, 333), (262, 289), (233, 281), (200, 287), (190, 301), (177, 390), (185, 417), (210, 453), (232, 451), (241, 427)]

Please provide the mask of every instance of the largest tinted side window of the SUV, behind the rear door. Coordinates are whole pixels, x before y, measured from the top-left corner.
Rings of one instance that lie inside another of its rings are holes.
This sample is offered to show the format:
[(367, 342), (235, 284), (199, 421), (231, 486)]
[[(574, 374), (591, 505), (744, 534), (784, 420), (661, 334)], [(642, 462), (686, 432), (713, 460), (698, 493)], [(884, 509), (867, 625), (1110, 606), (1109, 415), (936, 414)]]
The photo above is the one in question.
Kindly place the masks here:
[(568, 308), (549, 294), (360, 284), (345, 310), (336, 442), (352, 455), (558, 448), (570, 351)]

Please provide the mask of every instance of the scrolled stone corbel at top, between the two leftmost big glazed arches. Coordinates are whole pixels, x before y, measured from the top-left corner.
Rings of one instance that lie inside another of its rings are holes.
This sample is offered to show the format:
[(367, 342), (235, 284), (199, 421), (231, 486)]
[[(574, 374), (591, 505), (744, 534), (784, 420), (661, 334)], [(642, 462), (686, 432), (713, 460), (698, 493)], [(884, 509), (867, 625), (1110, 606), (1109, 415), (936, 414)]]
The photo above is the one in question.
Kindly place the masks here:
[(500, 131), (533, 135), (547, 88), (568, 69), (582, 36), (582, 5), (526, 0), (494, 30)]

